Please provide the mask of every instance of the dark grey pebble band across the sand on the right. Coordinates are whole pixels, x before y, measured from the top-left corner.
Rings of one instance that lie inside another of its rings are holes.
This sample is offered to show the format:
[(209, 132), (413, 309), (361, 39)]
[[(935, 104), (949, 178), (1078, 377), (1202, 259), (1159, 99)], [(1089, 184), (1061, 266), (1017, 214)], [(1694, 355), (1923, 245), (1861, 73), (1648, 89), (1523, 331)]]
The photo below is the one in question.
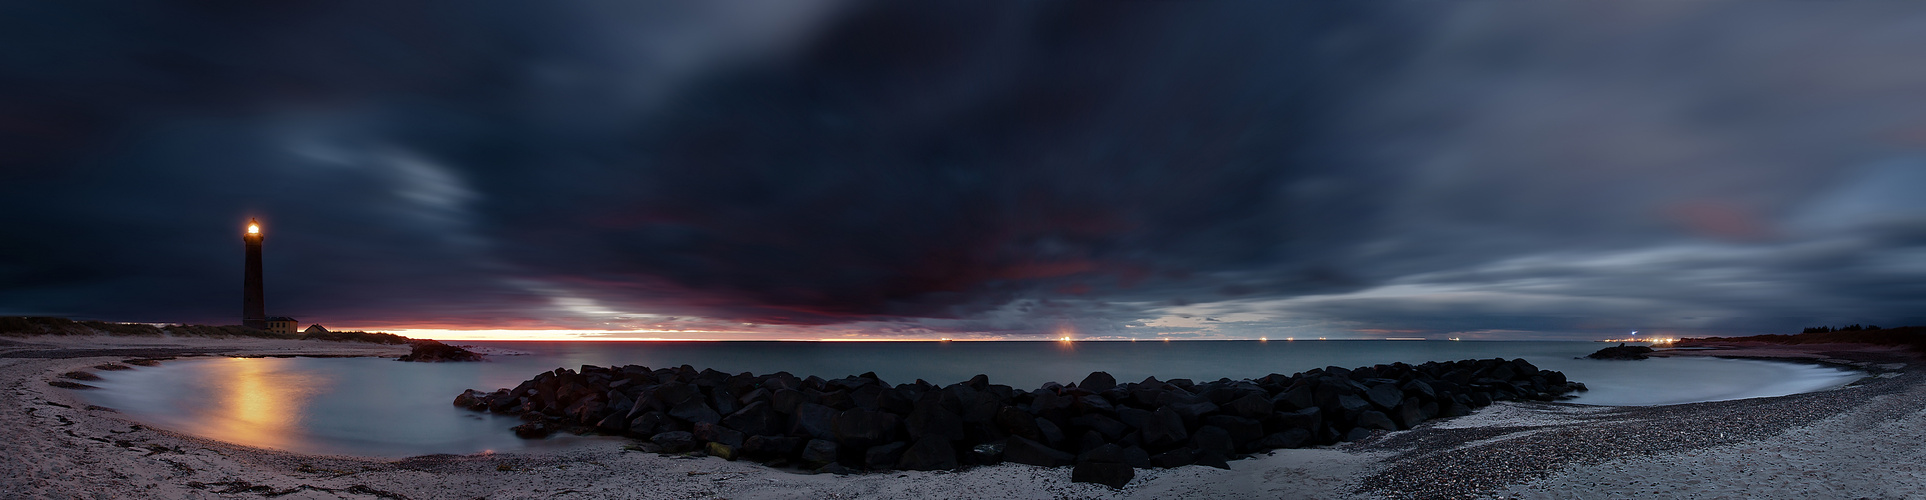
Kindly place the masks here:
[[(1920, 385), (1926, 375), (1893, 369), (1899, 367), (1880, 369), (1891, 377), (1778, 398), (1639, 408), (1500, 404), (1479, 415), (1358, 444), (1358, 450), (1396, 452), (1387, 460), (1389, 467), (1362, 481), (1358, 492), (1379, 498), (1487, 498), (1498, 490), (1531, 496), (1525, 494), (1531, 488), (1508, 487), (1575, 465), (1643, 462), (1764, 440), (1830, 417), (1859, 421), (1862, 429), (1918, 417), (1926, 408)], [(1606, 483), (1626, 481), (1635, 479)]]

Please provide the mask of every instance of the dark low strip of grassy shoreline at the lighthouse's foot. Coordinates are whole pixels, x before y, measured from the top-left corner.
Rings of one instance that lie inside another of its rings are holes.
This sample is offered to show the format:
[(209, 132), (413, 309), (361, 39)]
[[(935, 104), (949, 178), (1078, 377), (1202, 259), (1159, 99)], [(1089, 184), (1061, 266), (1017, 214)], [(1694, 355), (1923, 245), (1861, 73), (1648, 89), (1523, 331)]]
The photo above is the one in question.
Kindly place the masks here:
[(329, 331), (329, 333), (268, 333), (248, 327), (225, 325), (148, 325), (148, 323), (108, 323), (73, 321), (65, 317), (0, 315), (0, 337), (29, 335), (117, 335), (117, 337), (208, 337), (208, 338), (287, 338), (287, 340), (337, 340), (370, 344), (406, 344), (408, 337), (393, 333)]

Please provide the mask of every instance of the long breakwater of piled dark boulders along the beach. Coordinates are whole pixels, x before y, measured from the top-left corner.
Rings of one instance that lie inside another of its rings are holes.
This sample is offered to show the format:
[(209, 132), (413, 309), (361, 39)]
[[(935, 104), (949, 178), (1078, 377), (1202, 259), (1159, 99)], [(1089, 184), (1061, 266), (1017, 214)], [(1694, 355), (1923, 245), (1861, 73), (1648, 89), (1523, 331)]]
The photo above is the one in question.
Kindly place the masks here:
[(1211, 465), (1275, 448), (1360, 440), (1497, 400), (1558, 400), (1585, 385), (1525, 360), (1323, 367), (1194, 383), (1117, 383), (1096, 371), (1034, 390), (976, 375), (948, 387), (641, 365), (555, 369), (455, 406), (520, 415), (524, 438), (626, 435), (647, 452), (707, 454), (815, 471), (1075, 465), (1121, 487), (1140, 467)]

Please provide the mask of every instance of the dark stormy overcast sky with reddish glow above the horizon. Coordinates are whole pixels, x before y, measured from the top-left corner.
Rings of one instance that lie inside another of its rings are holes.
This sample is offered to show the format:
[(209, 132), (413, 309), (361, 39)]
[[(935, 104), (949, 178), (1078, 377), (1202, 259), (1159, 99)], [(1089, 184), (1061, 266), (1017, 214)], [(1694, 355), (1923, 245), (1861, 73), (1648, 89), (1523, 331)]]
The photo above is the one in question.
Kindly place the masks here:
[(663, 338), (1926, 323), (1901, 2), (0, 6), (0, 315)]

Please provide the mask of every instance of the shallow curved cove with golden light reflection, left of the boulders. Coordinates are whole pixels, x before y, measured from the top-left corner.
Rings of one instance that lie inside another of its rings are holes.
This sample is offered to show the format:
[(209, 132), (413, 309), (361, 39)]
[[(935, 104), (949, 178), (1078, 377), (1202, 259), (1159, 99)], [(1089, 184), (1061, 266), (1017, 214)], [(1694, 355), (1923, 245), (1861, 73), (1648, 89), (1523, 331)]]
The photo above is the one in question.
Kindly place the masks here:
[(204, 358), (102, 371), (92, 404), (156, 429), (297, 454), (420, 456), (570, 448), (605, 438), (522, 440), (508, 415), (451, 406), (462, 388), (514, 385), (503, 363), (379, 358)]

